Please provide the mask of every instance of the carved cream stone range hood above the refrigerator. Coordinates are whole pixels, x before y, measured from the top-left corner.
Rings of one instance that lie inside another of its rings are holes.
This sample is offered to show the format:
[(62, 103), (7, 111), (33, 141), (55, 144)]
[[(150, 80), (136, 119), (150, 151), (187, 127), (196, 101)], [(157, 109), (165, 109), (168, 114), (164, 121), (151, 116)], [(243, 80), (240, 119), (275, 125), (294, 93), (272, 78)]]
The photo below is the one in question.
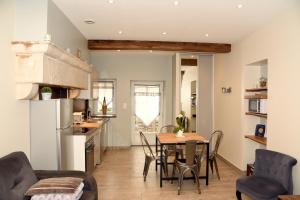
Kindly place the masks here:
[(39, 85), (88, 89), (92, 67), (47, 41), (14, 41), (16, 98), (33, 99)]

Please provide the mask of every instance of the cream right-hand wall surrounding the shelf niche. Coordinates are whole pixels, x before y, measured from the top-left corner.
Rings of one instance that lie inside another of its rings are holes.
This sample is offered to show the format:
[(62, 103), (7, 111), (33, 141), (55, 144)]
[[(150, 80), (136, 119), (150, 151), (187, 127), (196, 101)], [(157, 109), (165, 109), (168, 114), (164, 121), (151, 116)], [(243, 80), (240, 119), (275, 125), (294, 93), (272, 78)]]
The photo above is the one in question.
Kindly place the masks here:
[[(215, 56), (215, 126), (224, 131), (220, 154), (240, 169), (249, 152), (242, 133), (243, 67), (268, 59), (267, 149), (294, 156), (300, 161), (300, 2), (270, 24), (232, 45), (229, 54)], [(232, 86), (230, 95), (221, 87)], [(250, 154), (254, 152), (249, 152)], [(293, 170), (294, 191), (300, 193), (300, 165)]]

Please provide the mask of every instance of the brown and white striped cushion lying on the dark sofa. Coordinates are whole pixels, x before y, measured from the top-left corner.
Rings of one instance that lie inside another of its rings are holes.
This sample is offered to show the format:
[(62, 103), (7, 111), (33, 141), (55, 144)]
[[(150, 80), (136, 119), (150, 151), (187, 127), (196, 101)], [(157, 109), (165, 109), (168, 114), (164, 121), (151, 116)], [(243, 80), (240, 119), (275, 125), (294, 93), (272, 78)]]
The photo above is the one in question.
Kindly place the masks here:
[[(51, 194), (51, 193), (75, 193), (79, 185), (82, 183), (82, 178), (77, 177), (60, 177), (42, 179), (32, 185), (26, 192), (26, 196), (36, 194)], [(82, 190), (82, 188), (81, 188)]]

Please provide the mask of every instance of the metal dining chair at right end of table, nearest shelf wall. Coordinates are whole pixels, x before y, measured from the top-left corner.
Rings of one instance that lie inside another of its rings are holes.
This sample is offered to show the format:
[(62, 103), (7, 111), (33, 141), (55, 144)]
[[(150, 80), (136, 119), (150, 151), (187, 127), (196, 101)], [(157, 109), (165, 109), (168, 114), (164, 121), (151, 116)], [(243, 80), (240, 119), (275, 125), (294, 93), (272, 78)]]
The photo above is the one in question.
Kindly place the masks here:
[(218, 176), (218, 179), (220, 180), (220, 174), (219, 174), (219, 169), (218, 169), (218, 163), (217, 163), (217, 155), (218, 155), (218, 150), (219, 150), (219, 146), (221, 143), (221, 140), (223, 138), (223, 132), (220, 130), (216, 130), (211, 134), (211, 138), (210, 138), (210, 144), (211, 145), (211, 152), (209, 154), (209, 164), (210, 164), (210, 168), (211, 168), (211, 172), (214, 173), (214, 167), (216, 169), (216, 173)]

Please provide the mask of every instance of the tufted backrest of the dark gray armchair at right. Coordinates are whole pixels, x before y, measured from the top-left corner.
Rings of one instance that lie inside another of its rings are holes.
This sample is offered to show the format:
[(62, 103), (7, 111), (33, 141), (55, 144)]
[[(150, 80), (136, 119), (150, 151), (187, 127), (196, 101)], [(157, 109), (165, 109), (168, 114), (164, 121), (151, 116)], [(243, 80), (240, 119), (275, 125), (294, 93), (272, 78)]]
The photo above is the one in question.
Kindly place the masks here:
[(297, 160), (275, 151), (257, 149), (255, 152), (254, 176), (275, 179), (293, 193), (292, 168)]

